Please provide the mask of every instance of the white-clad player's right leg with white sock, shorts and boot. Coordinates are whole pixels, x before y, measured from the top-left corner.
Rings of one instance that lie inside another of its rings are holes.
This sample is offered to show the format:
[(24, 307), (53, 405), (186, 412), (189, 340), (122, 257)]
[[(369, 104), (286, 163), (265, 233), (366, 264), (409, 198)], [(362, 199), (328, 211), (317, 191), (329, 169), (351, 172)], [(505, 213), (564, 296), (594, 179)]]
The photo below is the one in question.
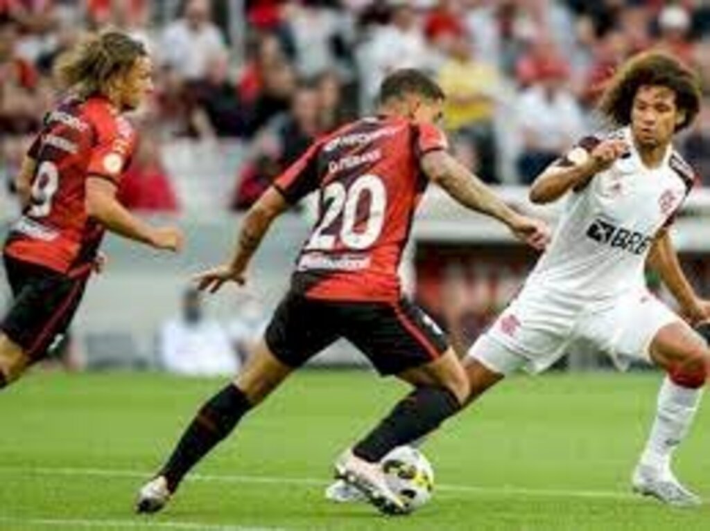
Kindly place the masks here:
[(633, 490), (672, 505), (699, 498), (671, 471), (674, 449), (684, 439), (705, 381), (707, 347), (692, 328), (651, 294), (624, 295), (607, 311), (588, 315), (578, 328), (625, 369), (640, 359), (665, 369), (657, 411), (645, 449), (632, 475)]

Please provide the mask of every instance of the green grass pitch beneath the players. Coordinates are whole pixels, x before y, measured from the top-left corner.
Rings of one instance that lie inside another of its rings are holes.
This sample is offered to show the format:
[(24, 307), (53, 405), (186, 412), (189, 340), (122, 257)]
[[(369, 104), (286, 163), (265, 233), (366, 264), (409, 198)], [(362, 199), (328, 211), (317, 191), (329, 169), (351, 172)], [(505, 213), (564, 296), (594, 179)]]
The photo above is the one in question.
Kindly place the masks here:
[[(131, 512), (141, 482), (222, 386), (154, 374), (33, 374), (0, 393), (0, 530), (709, 530), (710, 508), (636, 498), (630, 471), (660, 374), (520, 377), (450, 421), (424, 451), (432, 502), (403, 518), (322, 498), (332, 462), (405, 387), (304, 371), (183, 484), (165, 513)], [(710, 404), (679, 452), (710, 498)]]

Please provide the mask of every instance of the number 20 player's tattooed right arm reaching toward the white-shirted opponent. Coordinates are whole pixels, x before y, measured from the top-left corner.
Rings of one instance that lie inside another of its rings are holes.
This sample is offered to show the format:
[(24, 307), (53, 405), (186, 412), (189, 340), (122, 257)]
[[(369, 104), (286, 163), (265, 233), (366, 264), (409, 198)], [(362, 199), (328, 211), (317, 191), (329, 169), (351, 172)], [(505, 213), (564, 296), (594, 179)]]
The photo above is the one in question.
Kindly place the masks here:
[(517, 237), (532, 247), (542, 248), (547, 245), (550, 235), (545, 223), (515, 212), (446, 151), (425, 153), (421, 164), (425, 174), (461, 205), (501, 220)]

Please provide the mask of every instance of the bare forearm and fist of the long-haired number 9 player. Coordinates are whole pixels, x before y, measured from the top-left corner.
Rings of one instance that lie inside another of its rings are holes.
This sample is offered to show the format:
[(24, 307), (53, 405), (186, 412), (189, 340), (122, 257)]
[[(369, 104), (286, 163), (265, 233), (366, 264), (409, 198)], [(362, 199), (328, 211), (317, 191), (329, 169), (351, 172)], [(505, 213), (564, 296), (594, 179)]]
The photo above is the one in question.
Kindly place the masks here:
[(151, 245), (157, 249), (179, 251), (182, 233), (175, 228), (154, 228), (133, 216), (116, 199), (116, 184), (104, 177), (89, 175), (86, 181), (86, 210), (88, 216), (99, 221), (117, 235)]

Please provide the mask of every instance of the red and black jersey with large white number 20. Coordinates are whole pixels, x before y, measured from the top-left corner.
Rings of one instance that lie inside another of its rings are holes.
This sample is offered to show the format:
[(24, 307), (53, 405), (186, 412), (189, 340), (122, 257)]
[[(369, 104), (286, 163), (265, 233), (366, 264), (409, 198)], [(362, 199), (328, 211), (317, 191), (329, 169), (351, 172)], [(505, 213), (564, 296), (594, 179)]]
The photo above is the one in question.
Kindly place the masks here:
[(275, 181), (290, 203), (319, 190), (293, 291), (336, 301), (400, 298), (398, 267), (427, 187), (420, 159), (447, 149), (434, 125), (373, 117), (317, 140)]

